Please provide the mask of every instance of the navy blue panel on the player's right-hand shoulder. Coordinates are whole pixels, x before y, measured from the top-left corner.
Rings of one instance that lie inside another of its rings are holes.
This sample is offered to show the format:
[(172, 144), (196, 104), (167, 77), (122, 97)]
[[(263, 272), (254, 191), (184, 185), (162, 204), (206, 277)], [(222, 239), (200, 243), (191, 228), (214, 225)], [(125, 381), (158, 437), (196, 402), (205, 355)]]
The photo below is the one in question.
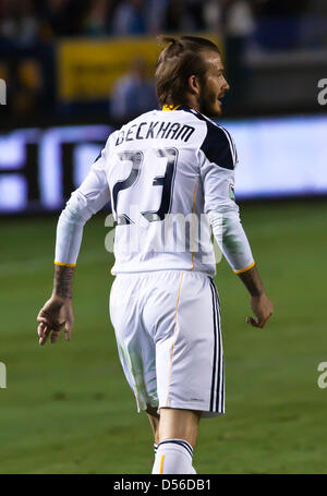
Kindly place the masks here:
[(201, 146), (207, 159), (223, 169), (233, 170), (235, 166), (235, 149), (228, 131), (214, 124), (199, 112), (194, 112), (194, 116), (207, 124), (207, 134)]

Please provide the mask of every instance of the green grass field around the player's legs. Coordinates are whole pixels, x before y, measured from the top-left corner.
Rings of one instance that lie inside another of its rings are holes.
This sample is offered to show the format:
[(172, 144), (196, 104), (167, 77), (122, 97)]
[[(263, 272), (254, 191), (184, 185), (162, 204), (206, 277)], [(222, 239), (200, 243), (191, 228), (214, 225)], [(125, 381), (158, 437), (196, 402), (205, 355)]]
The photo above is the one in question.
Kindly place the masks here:
[[(327, 473), (326, 202), (244, 205), (243, 225), (275, 315), (251, 328), (249, 298), (226, 264), (226, 415), (204, 420), (198, 473)], [(153, 439), (125, 383), (108, 316), (112, 256), (104, 217), (85, 228), (71, 342), (38, 346), (52, 286), (56, 219), (0, 222), (0, 473), (149, 473)]]

